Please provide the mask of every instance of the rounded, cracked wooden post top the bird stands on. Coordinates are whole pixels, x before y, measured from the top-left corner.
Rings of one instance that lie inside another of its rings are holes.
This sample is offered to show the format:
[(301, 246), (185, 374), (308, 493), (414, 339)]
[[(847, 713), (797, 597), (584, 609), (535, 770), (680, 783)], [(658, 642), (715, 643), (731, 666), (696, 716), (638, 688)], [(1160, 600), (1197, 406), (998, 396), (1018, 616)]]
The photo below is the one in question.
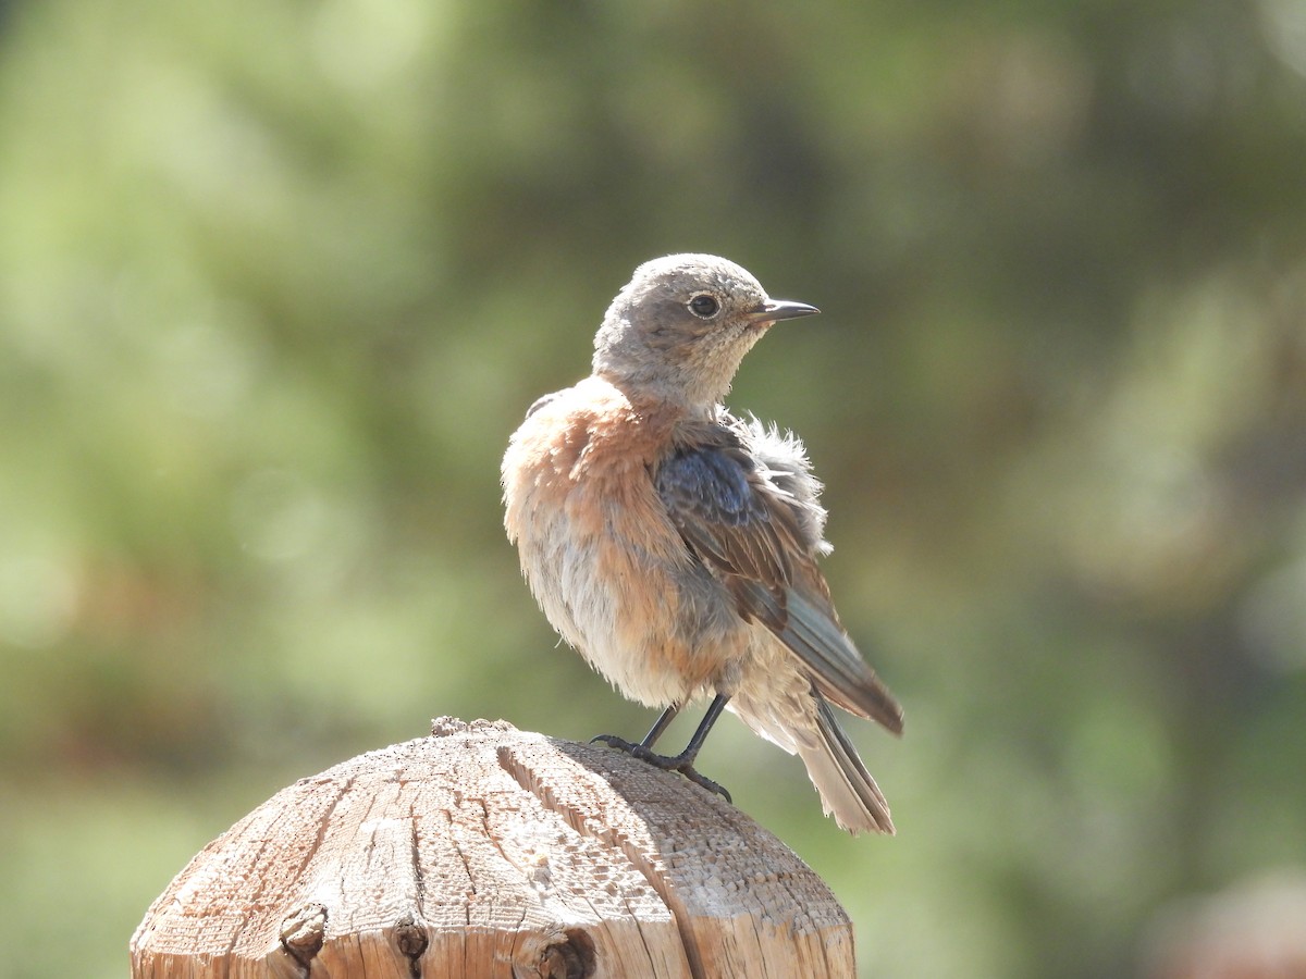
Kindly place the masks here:
[(135, 979), (855, 972), (829, 888), (722, 799), (611, 749), (453, 718), (246, 816), (131, 953)]

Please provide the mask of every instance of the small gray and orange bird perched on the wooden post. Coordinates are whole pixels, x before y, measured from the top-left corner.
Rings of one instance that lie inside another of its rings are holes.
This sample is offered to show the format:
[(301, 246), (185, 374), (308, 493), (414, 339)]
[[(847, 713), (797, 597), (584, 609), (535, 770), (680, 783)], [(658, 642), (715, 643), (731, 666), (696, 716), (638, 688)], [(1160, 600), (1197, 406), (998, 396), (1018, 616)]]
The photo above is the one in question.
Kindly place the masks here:
[[(895, 833), (832, 706), (895, 735), (902, 709), (840, 624), (818, 559), (821, 484), (791, 432), (722, 403), (776, 324), (812, 316), (713, 255), (635, 269), (594, 335), (592, 372), (535, 401), (502, 466), (504, 527), (556, 632), (662, 714), (639, 743), (594, 739), (730, 794), (695, 768), (724, 710), (797, 753), (827, 816)], [(712, 697), (684, 751), (654, 745)]]

